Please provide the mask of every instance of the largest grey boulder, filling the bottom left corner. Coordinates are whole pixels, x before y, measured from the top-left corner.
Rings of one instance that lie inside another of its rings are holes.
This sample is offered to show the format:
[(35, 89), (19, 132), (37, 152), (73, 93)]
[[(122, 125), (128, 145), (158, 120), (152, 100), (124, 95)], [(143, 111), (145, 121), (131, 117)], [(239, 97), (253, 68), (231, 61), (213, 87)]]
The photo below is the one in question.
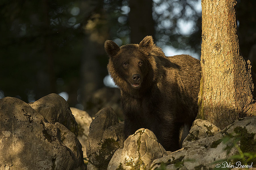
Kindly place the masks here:
[(85, 169), (74, 133), (60, 123), (48, 123), (25, 102), (0, 99), (0, 122), (0, 169)]

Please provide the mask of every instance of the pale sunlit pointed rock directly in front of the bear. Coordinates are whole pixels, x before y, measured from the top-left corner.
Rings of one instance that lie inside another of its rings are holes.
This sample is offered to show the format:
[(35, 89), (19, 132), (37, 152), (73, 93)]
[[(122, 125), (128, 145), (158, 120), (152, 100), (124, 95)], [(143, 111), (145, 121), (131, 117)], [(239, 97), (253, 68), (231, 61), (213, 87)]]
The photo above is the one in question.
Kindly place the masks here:
[(153, 160), (166, 155), (166, 150), (158, 143), (154, 133), (142, 128), (126, 139), (123, 149), (118, 149), (114, 153), (108, 164), (108, 170), (148, 170)]

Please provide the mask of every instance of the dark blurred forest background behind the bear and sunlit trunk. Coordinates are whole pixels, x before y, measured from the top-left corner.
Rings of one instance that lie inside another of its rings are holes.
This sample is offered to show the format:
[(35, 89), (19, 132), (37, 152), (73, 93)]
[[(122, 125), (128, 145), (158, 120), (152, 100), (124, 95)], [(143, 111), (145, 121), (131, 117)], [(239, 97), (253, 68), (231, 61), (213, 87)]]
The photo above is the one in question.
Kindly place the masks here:
[[(255, 70), (256, 1), (237, 2), (240, 52)], [(152, 35), (167, 56), (200, 59), (198, 0), (2, 0), (0, 21), (0, 98), (57, 93), (86, 110), (97, 89), (112, 86), (106, 39), (125, 45)]]

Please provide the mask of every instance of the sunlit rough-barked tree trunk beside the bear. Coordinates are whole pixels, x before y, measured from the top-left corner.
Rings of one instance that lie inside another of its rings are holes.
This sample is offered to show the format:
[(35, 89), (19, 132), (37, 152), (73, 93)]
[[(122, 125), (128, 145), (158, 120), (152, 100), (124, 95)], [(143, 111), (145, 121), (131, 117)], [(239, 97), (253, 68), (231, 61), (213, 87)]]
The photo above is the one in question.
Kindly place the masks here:
[(239, 53), (236, 1), (202, 0), (201, 53), (198, 118), (223, 129), (256, 115), (250, 61)]

